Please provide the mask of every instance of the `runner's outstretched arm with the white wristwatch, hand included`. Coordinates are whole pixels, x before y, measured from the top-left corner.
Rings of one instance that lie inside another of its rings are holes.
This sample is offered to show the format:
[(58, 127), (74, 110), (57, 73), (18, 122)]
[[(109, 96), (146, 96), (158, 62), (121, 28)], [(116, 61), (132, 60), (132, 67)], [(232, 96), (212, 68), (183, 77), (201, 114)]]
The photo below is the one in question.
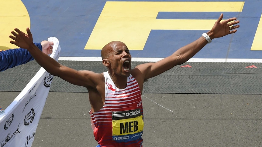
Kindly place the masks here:
[[(223, 14), (220, 15), (218, 20), (215, 22), (212, 29), (207, 32), (210, 39), (223, 37), (228, 34), (236, 32), (236, 28), (239, 28), (239, 21), (236, 18), (229, 18), (221, 22)], [(179, 48), (171, 56), (164, 58), (155, 63), (146, 63), (138, 65), (136, 70), (140, 71), (144, 80), (159, 75), (176, 65), (183, 64), (192, 58), (198, 51), (200, 51), (208, 43), (207, 39), (203, 36), (195, 40), (194, 42)]]

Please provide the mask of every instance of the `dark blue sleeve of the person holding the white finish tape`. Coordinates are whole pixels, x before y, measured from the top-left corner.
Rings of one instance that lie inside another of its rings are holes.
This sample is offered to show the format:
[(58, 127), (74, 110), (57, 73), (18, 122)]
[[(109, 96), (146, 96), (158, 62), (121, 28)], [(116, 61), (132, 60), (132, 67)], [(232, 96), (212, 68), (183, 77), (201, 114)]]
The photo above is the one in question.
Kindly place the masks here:
[[(34, 43), (41, 51), (41, 43)], [(0, 51), (0, 72), (13, 68), (17, 65), (25, 64), (34, 60), (32, 55), (24, 48), (8, 49)]]

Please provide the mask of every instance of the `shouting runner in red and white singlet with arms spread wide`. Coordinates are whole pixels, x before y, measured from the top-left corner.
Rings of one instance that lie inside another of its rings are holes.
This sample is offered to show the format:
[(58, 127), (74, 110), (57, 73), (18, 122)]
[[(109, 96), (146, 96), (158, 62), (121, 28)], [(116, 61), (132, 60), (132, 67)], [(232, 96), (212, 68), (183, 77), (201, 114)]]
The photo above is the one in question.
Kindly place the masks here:
[(145, 63), (131, 69), (131, 55), (123, 42), (109, 42), (102, 48), (102, 64), (108, 72), (77, 71), (60, 65), (40, 52), (33, 44), (33, 36), (19, 29), (12, 31), (10, 41), (26, 48), (43, 68), (52, 75), (74, 85), (88, 89), (91, 104), (90, 116), (98, 147), (142, 146), (143, 106), (141, 93), (143, 82), (159, 75), (176, 65), (183, 64), (200, 51), (213, 38), (235, 33), (239, 28), (236, 18), (222, 21), (220, 15), (212, 29), (203, 33), (194, 42), (178, 49), (172, 55), (155, 63)]

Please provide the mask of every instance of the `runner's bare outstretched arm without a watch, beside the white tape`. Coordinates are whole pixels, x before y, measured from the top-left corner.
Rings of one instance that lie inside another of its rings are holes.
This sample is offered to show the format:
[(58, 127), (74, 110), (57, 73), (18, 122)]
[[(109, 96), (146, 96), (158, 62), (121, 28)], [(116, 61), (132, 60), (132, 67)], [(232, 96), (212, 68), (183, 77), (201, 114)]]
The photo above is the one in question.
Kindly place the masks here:
[(33, 35), (29, 28), (26, 28), (27, 34), (15, 28), (12, 35), (9, 37), (13, 39), (10, 43), (17, 45), (21, 48), (27, 49), (30, 54), (35, 58), (36, 62), (46, 69), (52, 75), (59, 76), (60, 78), (70, 82), (74, 85), (80, 85), (84, 87), (94, 87), (97, 85), (92, 79), (98, 79), (99, 75), (91, 71), (77, 71), (72, 68), (60, 65), (56, 60), (49, 57), (47, 54), (41, 52), (33, 43)]

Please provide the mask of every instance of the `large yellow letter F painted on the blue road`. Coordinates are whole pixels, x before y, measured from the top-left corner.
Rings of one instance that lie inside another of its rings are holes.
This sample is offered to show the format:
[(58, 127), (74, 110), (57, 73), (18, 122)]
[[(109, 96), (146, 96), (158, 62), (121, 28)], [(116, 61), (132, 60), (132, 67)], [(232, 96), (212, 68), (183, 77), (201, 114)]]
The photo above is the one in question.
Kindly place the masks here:
[[(241, 12), (244, 2), (106, 2), (84, 49), (122, 41), (143, 50), (151, 30), (209, 30), (212, 19), (156, 19), (158, 12)], [(194, 24), (194, 25), (191, 25)]]

